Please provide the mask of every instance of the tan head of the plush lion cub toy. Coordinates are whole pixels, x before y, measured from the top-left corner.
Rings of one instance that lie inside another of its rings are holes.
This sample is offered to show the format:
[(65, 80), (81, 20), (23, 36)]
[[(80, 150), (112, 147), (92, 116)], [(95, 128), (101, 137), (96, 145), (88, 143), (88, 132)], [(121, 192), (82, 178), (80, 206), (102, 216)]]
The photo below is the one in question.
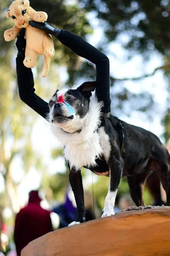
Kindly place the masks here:
[(30, 21), (29, 0), (16, 0), (12, 2), (6, 12), (6, 18), (12, 18), (18, 28), (26, 28)]

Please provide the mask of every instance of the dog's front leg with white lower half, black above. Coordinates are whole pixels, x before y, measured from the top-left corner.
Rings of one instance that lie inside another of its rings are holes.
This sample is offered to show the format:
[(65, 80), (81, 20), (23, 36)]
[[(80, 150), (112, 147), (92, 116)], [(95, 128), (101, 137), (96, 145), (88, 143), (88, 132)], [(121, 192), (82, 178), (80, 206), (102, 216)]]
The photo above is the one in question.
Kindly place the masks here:
[(117, 189), (119, 187), (119, 183), (121, 181), (124, 166), (121, 155), (119, 155), (119, 157), (114, 157), (112, 155), (109, 159), (108, 165), (110, 169), (110, 182), (109, 190), (105, 198), (105, 205), (103, 209), (103, 214), (101, 216), (102, 218), (115, 214), (115, 198), (117, 194)]

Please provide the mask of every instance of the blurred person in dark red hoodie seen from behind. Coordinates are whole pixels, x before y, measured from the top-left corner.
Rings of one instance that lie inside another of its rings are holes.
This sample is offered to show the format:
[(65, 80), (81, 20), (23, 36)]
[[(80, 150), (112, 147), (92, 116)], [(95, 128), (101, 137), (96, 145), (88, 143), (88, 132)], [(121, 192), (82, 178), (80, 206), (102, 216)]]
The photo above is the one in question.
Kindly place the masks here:
[(16, 215), (14, 242), (17, 256), (29, 242), (53, 231), (50, 212), (40, 206), (41, 200), (38, 190), (30, 191), (28, 204)]

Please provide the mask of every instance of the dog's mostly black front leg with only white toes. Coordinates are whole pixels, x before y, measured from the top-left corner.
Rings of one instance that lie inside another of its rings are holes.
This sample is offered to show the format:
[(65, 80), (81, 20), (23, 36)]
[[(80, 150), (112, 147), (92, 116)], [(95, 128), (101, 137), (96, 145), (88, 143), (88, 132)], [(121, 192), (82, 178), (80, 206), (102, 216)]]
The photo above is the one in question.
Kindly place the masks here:
[(72, 226), (85, 222), (85, 205), (81, 170), (77, 171), (74, 168), (69, 167), (69, 182), (77, 205), (77, 220), (69, 224), (69, 226)]

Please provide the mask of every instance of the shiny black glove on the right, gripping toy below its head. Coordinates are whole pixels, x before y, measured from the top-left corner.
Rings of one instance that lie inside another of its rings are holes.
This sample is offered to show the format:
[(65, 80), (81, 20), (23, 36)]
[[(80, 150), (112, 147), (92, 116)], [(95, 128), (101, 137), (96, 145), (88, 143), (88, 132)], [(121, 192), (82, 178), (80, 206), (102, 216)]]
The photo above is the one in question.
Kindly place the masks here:
[(42, 29), (43, 31), (47, 32), (47, 34), (51, 34), (56, 38), (59, 36), (60, 29), (53, 27), (47, 22), (30, 21), (29, 24), (34, 28)]

